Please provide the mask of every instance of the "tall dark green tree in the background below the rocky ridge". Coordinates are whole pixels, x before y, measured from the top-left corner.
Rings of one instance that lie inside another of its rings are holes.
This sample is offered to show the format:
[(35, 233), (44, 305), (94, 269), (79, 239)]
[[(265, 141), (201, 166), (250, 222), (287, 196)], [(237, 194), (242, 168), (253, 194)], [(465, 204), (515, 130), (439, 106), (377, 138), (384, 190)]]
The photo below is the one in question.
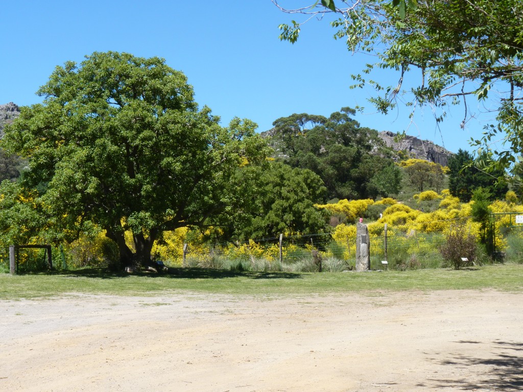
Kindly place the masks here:
[[(328, 118), (292, 114), (277, 119), (270, 141), (278, 157), (295, 168), (310, 169), (323, 180), (329, 199), (388, 195), (399, 189), (401, 172), (378, 132), (361, 128), (342, 108)], [(370, 154), (377, 148), (380, 154)], [(383, 170), (384, 169), (384, 170)]]

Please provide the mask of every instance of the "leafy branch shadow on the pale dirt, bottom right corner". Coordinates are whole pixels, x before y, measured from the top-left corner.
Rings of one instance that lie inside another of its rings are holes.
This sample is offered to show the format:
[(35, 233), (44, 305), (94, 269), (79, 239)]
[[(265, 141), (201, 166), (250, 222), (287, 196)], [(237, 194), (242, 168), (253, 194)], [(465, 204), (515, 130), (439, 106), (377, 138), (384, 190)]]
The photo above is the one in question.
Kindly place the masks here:
[[(463, 344), (479, 344), (477, 341), (459, 341)], [(452, 360), (436, 360), (441, 365), (450, 365), (459, 368), (470, 366), (488, 366), (488, 370), (482, 374), (476, 374), (473, 380), (466, 378), (456, 379), (428, 379), (435, 383), (433, 388), (458, 387), (463, 390), (523, 390), (523, 343), (504, 342), (496, 340), (492, 342), (494, 352), (492, 358), (474, 358), (472, 356), (457, 355)], [(497, 352), (496, 352), (497, 351)], [(474, 369), (471, 369), (474, 371)], [(422, 386), (421, 384), (419, 386)], [(423, 385), (427, 387), (427, 385)]]

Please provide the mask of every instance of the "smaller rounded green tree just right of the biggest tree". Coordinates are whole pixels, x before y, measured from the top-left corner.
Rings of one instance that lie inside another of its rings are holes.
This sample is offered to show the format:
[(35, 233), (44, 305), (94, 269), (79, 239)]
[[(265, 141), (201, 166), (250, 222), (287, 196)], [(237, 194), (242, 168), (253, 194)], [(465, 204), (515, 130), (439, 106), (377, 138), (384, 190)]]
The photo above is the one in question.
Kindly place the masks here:
[(232, 215), (213, 221), (222, 229), (219, 239), (247, 240), (280, 233), (328, 232), (329, 214), (314, 204), (325, 200), (323, 181), (311, 170), (280, 162), (246, 167), (238, 178), (245, 202)]

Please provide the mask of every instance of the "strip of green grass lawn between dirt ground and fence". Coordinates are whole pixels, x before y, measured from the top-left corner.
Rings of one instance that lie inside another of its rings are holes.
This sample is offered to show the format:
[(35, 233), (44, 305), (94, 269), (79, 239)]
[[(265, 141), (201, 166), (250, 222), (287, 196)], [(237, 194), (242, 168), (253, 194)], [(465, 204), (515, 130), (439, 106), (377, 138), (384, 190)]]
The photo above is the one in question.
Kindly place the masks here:
[(461, 289), (523, 290), (523, 264), (494, 264), (459, 271), (286, 273), (179, 269), (176, 274), (169, 275), (113, 274), (99, 270), (14, 276), (0, 274), (0, 299), (46, 298), (69, 293), (289, 295)]

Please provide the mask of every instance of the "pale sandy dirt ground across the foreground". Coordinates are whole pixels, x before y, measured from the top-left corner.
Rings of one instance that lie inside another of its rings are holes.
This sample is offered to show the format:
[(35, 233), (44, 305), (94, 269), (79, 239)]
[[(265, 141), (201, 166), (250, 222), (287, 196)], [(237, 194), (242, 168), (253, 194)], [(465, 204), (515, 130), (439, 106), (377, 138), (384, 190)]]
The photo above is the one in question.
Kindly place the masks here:
[(522, 300), (436, 291), (0, 301), (0, 390), (523, 390)]

